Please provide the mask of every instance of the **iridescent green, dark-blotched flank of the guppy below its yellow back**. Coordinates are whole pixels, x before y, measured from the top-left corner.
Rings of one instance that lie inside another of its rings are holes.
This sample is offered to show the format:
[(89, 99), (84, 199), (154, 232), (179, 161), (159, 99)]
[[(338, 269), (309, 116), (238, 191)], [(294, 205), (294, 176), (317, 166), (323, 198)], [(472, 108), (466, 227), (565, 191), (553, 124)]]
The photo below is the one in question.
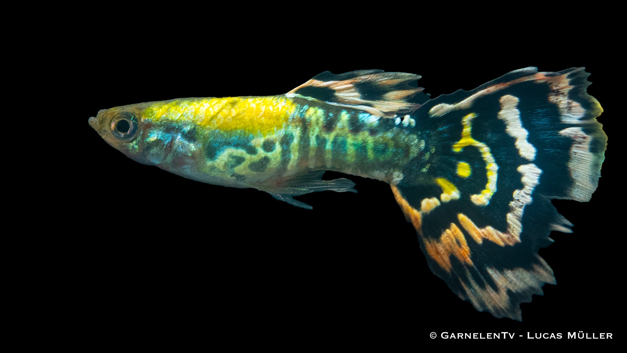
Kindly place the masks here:
[[(187, 110), (175, 113), (192, 114)], [(166, 116), (161, 119), (165, 121)], [(187, 146), (201, 151), (204, 163), (200, 168), (204, 173), (222, 171), (237, 181), (253, 175), (258, 181), (275, 175), (298, 175), (303, 168), (354, 171), (364, 176), (374, 170), (377, 178), (387, 180), (402, 168), (401, 163), (418, 154), (410, 137), (415, 135), (397, 127), (394, 119), (338, 106), (301, 106), (295, 102), (288, 120), (282, 128), (273, 133), (266, 129), (264, 134), (242, 133), (235, 129), (239, 126), (235, 121), (229, 122), (228, 131), (201, 128), (189, 121), (177, 129), (182, 131), (179, 136), (186, 139)], [(204, 143), (194, 145), (193, 141)]]

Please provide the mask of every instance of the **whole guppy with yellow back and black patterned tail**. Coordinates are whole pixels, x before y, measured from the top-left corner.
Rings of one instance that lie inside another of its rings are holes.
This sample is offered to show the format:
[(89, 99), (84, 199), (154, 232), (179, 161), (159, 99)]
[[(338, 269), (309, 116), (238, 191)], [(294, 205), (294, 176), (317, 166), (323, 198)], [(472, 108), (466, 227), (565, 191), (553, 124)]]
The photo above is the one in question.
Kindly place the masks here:
[(89, 124), (135, 161), (199, 182), (293, 197), (356, 192), (326, 170), (389, 183), (429, 267), (463, 300), (521, 320), (555, 283), (540, 258), (571, 232), (551, 198), (588, 201), (607, 136), (583, 68), (516, 70), (429, 99), (418, 75), (320, 73), (287, 94), (103, 109)]

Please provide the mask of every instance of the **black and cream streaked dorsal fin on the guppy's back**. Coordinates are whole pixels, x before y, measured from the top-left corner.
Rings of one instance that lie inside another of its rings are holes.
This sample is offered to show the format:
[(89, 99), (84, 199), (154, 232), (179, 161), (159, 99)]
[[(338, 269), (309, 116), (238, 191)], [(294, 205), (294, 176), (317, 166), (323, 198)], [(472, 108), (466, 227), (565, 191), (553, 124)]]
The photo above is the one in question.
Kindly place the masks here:
[[(287, 93), (288, 97), (322, 100), (334, 106), (369, 112), (374, 116), (393, 117), (411, 113), (421, 105), (409, 102), (423, 88), (419, 75), (382, 70), (358, 70), (335, 75), (325, 71)], [(421, 101), (428, 99), (423, 94)]]

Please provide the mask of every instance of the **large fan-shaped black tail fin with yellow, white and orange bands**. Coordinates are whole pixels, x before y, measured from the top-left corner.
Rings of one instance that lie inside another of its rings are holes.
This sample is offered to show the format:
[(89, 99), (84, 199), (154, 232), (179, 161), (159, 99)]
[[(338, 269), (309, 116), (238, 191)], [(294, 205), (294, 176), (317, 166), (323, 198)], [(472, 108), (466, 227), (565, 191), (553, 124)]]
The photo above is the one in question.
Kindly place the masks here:
[(525, 68), (416, 112), (425, 148), (394, 197), (433, 273), (477, 310), (522, 320), (555, 283), (538, 250), (572, 224), (550, 200), (589, 200), (607, 143), (588, 75)]

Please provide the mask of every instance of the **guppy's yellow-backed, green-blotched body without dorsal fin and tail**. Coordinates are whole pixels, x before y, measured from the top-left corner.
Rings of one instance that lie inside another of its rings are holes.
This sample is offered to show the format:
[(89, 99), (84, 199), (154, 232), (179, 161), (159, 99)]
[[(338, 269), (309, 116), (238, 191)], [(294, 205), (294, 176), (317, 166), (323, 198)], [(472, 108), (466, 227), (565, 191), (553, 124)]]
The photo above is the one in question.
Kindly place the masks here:
[[(379, 79), (391, 76), (368, 72), (381, 75)], [(416, 76), (403, 74), (401, 80), (415, 82)], [(332, 170), (395, 183), (404, 166), (424, 149), (411, 116), (383, 119), (381, 112), (369, 110), (295, 93), (187, 98), (107, 109), (90, 124), (140, 163), (199, 182), (257, 188), (310, 208), (292, 196), (314, 190), (354, 191), (349, 180), (322, 182), (322, 174), (313, 172)], [(141, 131), (133, 141), (120, 140), (107, 131), (117, 121), (141, 125)]]

